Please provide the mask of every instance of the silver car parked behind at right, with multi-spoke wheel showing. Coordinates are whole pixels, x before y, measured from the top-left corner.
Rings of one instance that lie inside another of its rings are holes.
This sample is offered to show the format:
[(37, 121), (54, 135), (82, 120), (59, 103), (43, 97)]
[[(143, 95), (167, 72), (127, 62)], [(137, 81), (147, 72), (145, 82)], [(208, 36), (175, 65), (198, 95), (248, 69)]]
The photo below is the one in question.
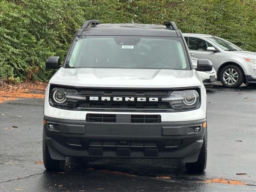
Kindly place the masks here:
[(183, 33), (190, 56), (209, 59), (217, 80), (229, 88), (242, 83), (256, 86), (256, 52), (244, 51), (222, 38), (206, 34)]

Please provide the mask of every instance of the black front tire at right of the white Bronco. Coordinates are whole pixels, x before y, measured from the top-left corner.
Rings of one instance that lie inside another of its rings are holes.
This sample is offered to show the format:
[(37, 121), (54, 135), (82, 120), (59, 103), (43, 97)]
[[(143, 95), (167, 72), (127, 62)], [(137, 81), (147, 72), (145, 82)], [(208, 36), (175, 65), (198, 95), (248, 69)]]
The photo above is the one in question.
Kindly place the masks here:
[(198, 156), (198, 160), (194, 163), (186, 163), (186, 170), (191, 173), (201, 173), (204, 172), (206, 168), (207, 160), (207, 129), (204, 133), (203, 145)]

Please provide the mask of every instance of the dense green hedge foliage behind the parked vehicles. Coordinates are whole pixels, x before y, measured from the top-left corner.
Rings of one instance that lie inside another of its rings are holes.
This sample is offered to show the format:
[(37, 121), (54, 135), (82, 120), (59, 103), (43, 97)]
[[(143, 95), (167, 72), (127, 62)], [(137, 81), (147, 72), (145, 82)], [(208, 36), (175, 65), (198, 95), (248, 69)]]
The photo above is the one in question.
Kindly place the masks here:
[(48, 56), (64, 58), (85, 20), (176, 22), (256, 51), (255, 0), (0, 0), (0, 80), (48, 80)]

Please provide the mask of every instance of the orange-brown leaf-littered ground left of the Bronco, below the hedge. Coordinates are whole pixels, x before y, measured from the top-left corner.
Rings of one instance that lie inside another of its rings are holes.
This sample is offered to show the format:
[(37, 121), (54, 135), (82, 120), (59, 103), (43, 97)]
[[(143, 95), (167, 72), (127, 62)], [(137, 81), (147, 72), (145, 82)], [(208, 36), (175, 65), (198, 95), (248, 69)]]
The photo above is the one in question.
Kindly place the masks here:
[(24, 82), (21, 84), (4, 84), (0, 90), (0, 103), (18, 98), (44, 98), (47, 83)]

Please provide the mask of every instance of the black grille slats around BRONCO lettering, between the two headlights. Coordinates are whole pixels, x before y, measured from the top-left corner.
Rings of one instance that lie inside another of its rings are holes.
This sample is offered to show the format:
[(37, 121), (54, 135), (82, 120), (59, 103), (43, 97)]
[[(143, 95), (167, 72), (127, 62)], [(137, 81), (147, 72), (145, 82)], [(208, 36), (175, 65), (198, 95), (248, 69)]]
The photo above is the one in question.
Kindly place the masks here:
[[(97, 97), (134, 97), (134, 101), (101, 101), (84, 100), (78, 102), (77, 108), (80, 110), (108, 110), (108, 111), (166, 111), (172, 109), (169, 102), (162, 102), (162, 97), (167, 97), (171, 93), (168, 89), (123, 89), (123, 88), (88, 88), (80, 90), (79, 94), (89, 98)], [(138, 102), (136, 98), (147, 98), (144, 102)], [(158, 101), (150, 102), (149, 98), (156, 97)]]

